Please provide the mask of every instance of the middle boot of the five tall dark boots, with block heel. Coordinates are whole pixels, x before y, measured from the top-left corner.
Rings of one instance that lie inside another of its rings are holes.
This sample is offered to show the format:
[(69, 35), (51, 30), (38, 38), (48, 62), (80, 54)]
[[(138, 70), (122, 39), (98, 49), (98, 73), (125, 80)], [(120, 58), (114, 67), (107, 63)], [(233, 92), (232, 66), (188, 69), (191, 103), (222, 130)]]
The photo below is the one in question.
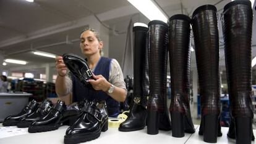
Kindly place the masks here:
[(171, 126), (173, 137), (194, 133), (189, 104), (190, 87), (190, 18), (169, 18), (169, 60), (171, 70)]

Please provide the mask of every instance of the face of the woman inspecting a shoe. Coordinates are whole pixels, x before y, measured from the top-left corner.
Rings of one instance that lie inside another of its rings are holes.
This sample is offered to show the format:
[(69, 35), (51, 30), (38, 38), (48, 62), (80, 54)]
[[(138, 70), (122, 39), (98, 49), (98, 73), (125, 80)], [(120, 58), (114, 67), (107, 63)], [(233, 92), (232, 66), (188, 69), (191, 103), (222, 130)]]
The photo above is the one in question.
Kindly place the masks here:
[(90, 55), (100, 54), (100, 49), (103, 47), (103, 42), (98, 41), (93, 31), (83, 31), (80, 36), (80, 49), (86, 57)]

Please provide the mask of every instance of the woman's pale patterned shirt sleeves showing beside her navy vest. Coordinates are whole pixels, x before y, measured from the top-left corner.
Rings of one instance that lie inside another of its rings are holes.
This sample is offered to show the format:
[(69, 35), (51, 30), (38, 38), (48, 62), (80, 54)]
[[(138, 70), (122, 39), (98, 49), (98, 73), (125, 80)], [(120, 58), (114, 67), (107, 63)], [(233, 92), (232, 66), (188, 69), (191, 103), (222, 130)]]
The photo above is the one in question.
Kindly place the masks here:
[[(72, 80), (70, 73), (65, 76), (67, 91), (64, 95), (72, 94)], [(108, 81), (116, 87), (126, 90), (126, 83), (124, 82), (124, 76), (122, 74), (121, 67), (116, 59), (112, 59), (110, 63), (109, 79)], [(58, 94), (59, 95), (59, 94)]]

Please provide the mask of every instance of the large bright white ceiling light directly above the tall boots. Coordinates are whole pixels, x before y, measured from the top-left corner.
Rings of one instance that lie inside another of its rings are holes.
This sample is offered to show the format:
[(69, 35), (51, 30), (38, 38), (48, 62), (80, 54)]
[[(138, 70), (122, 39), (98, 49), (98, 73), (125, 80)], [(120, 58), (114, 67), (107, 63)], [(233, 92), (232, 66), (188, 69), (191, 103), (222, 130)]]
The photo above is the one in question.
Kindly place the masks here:
[(168, 22), (168, 17), (164, 14), (163, 10), (151, 0), (127, 0), (136, 9), (138, 9), (145, 17), (149, 20), (161, 20), (163, 22)]

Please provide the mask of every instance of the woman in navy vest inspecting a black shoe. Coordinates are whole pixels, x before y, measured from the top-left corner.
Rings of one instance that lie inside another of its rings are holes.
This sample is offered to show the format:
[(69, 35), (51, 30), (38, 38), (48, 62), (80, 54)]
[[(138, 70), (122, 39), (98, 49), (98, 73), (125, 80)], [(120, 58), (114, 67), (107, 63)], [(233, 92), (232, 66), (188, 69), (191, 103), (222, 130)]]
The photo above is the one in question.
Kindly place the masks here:
[(56, 57), (56, 93), (61, 96), (72, 94), (74, 102), (81, 100), (106, 100), (108, 114), (116, 117), (119, 114), (119, 102), (126, 99), (126, 85), (119, 63), (115, 59), (101, 57), (100, 51), (103, 48), (97, 31), (86, 29), (80, 35), (80, 49), (87, 58), (90, 69), (95, 74), (96, 80), (90, 80), (95, 90), (88, 90), (72, 76), (67, 73), (67, 67), (62, 57)]

